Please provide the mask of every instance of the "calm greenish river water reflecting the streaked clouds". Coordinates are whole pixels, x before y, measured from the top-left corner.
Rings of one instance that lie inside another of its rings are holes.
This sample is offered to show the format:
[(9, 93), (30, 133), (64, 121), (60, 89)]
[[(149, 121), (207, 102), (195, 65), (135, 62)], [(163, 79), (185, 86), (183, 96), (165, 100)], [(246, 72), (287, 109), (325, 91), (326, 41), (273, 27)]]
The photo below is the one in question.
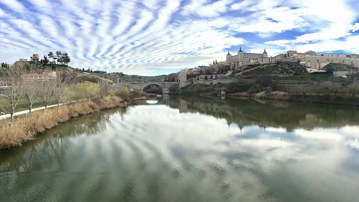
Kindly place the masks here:
[(162, 97), (0, 151), (0, 201), (358, 201), (359, 109)]

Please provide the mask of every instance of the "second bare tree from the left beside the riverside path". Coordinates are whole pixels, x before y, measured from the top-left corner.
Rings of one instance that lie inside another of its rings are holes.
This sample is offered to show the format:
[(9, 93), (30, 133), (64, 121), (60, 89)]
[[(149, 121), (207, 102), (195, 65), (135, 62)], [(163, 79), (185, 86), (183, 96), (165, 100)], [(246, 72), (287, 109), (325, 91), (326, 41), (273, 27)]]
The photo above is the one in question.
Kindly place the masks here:
[(33, 104), (40, 97), (40, 83), (39, 80), (35, 77), (35, 69), (35, 65), (31, 65), (30, 70), (28, 71), (29, 74), (24, 77), (24, 98), (29, 107), (29, 113), (32, 111)]

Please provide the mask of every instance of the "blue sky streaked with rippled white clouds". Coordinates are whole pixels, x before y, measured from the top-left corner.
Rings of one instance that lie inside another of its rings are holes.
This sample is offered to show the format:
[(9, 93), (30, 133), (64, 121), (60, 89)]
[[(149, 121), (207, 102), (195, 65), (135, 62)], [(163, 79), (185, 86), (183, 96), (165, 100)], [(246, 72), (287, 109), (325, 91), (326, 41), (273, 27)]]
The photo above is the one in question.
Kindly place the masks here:
[(269, 56), (359, 54), (357, 0), (0, 0), (0, 62), (69, 53), (72, 67), (169, 74)]

